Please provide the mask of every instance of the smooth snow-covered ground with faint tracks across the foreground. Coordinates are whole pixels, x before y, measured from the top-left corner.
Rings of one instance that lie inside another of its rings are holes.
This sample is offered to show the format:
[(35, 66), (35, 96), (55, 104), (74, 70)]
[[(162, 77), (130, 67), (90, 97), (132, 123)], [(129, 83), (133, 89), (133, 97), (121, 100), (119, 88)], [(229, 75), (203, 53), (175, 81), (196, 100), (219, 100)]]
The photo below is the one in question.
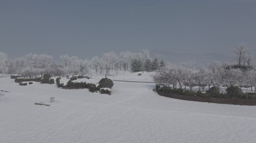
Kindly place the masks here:
[[(110, 78), (152, 81), (150, 73)], [(10, 92), (0, 92), (0, 143), (255, 143), (255, 106), (183, 101), (152, 89), (154, 83), (114, 81), (106, 95), (19, 86), (4, 75), (0, 90)]]

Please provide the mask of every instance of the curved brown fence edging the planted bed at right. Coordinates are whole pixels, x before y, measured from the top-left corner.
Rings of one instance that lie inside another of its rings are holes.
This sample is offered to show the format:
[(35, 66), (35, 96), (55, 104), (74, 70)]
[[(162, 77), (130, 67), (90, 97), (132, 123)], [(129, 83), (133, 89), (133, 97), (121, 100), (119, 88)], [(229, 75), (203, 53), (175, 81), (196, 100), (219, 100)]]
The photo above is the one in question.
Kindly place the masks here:
[(166, 93), (157, 91), (161, 96), (182, 99), (188, 101), (198, 101), (198, 102), (211, 102), (219, 104), (232, 104), (232, 105), (256, 105), (256, 99), (238, 99), (238, 98), (215, 98), (215, 97), (201, 97), (201, 96), (191, 96), (191, 95), (180, 95), (174, 93)]

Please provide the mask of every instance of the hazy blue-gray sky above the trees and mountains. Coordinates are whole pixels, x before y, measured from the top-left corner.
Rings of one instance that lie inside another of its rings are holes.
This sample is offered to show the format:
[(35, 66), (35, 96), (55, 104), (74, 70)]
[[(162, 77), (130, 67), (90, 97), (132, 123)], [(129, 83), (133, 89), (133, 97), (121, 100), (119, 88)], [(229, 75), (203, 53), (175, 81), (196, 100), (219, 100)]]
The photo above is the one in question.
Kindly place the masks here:
[(0, 0), (0, 51), (91, 58), (141, 49), (256, 55), (255, 0)]

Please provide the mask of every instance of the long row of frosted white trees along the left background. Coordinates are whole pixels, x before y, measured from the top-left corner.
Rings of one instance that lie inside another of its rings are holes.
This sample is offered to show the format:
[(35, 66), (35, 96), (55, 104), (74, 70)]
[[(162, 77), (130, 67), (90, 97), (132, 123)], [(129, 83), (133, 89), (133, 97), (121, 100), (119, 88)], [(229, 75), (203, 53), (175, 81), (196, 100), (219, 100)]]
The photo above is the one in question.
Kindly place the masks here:
[[(69, 55), (61, 55), (60, 58), (62, 61), (58, 63), (51, 55), (30, 53), (24, 57), (8, 59), (6, 54), (0, 52), (0, 73), (19, 74), (27, 78), (40, 77), (43, 74), (109, 76), (125, 73), (126, 70), (158, 70), (161, 65), (165, 65), (164, 61), (159, 63), (156, 57), (151, 59), (148, 50), (143, 50), (143, 53), (109, 52), (90, 60)], [(139, 70), (136, 66), (137, 61), (143, 63)]]

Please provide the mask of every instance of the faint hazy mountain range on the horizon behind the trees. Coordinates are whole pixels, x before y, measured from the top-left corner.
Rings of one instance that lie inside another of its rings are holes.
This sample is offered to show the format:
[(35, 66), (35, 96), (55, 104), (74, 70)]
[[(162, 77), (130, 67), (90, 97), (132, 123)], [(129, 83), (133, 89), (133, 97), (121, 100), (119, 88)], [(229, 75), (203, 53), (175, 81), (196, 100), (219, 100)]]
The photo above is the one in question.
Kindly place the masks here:
[(208, 53), (208, 54), (188, 54), (188, 53), (172, 53), (168, 51), (150, 51), (151, 56), (157, 56), (160, 60), (163, 58), (173, 64), (180, 63), (191, 63), (191, 64), (208, 64), (213, 62), (220, 63), (231, 63), (234, 62), (234, 57), (218, 54), (218, 53)]

